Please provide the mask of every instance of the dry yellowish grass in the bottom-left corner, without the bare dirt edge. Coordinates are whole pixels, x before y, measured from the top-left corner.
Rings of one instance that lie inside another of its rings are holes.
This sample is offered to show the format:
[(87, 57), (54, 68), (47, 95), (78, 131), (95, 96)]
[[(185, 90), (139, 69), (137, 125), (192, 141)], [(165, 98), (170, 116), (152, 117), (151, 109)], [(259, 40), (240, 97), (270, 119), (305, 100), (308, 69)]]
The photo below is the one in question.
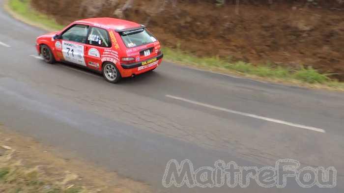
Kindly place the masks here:
[[(2, 134), (1, 139), (4, 139)], [(10, 140), (10, 138), (5, 139)], [(8, 142), (7, 142), (8, 143)], [(26, 165), (30, 162), (18, 156), (13, 146), (0, 141), (0, 192), (1, 193), (89, 193), (85, 188), (68, 184), (75, 174), (63, 171), (47, 175), (47, 165)], [(52, 165), (49, 165), (52, 167)]]

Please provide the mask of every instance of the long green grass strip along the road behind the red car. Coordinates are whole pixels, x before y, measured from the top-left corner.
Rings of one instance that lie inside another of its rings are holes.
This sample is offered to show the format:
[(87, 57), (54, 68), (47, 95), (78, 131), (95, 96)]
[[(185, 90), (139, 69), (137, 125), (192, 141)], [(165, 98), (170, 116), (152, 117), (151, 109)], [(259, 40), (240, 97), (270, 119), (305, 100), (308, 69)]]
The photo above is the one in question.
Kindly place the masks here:
[(209, 70), (219, 70), (220, 72), (234, 72), (244, 75), (275, 79), (278, 81), (290, 81), (307, 84), (316, 84), (344, 89), (344, 83), (329, 78), (329, 74), (321, 74), (311, 66), (300, 69), (290, 69), (283, 66), (260, 64), (254, 65), (243, 61), (230, 62), (219, 57), (196, 57), (182, 52), (180, 49), (164, 48), (165, 58), (174, 62), (191, 64), (192, 66), (202, 67)]

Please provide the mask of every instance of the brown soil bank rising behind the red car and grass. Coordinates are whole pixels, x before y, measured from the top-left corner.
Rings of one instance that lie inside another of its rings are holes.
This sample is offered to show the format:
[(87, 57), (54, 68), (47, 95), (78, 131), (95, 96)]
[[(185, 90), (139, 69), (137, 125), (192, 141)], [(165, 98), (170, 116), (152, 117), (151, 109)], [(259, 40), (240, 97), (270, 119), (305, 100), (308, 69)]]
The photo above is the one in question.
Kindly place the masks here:
[(241, 0), (239, 6), (232, 1), (32, 0), (32, 6), (61, 24), (88, 17), (124, 18), (148, 26), (166, 46), (195, 55), (293, 68), (311, 65), (344, 81), (343, 1)]

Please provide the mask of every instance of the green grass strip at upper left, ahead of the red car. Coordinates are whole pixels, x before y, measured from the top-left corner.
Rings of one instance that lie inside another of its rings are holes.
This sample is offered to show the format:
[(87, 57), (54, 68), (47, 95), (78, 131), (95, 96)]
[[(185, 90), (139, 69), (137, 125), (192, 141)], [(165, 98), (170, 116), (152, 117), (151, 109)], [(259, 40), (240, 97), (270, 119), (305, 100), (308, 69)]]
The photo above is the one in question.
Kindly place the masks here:
[(24, 17), (26, 20), (29, 20), (31, 22), (37, 22), (42, 26), (54, 30), (63, 28), (63, 26), (57, 24), (57, 22), (54, 19), (33, 10), (30, 7), (30, 0), (9, 0), (8, 6), (12, 11)]

